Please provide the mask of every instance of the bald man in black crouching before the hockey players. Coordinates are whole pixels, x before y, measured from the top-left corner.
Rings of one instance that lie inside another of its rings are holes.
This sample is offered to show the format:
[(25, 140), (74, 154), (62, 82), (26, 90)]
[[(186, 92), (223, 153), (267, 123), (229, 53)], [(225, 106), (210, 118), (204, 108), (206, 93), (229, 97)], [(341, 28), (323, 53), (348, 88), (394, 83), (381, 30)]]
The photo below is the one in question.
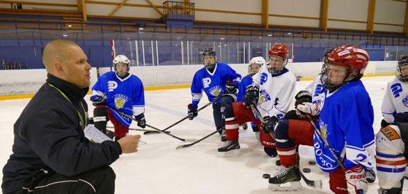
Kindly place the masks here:
[(47, 82), (14, 124), (13, 154), (3, 168), (3, 193), (114, 193), (109, 167), (137, 152), (140, 136), (90, 143), (84, 136), (91, 65), (75, 42), (53, 40), (42, 53)]

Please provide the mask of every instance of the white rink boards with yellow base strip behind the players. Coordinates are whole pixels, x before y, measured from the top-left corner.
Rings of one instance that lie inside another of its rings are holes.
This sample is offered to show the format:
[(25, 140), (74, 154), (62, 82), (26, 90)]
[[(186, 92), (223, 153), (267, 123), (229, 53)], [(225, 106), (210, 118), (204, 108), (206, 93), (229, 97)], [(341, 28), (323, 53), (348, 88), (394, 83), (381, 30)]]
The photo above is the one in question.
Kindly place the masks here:
[[(389, 75), (395, 72), (396, 61), (371, 61), (365, 75)], [(248, 65), (230, 65), (242, 76), (248, 74)], [(189, 87), (194, 73), (203, 65), (168, 65), (131, 67), (130, 72), (143, 81), (146, 90), (161, 90)], [(300, 80), (313, 79), (320, 73), (322, 63), (289, 63), (288, 69)], [(109, 67), (100, 68), (100, 74), (110, 71)], [(32, 97), (45, 83), (47, 73), (39, 70), (0, 70), (0, 99), (19, 99)], [(91, 86), (97, 81), (97, 70), (91, 70)]]

